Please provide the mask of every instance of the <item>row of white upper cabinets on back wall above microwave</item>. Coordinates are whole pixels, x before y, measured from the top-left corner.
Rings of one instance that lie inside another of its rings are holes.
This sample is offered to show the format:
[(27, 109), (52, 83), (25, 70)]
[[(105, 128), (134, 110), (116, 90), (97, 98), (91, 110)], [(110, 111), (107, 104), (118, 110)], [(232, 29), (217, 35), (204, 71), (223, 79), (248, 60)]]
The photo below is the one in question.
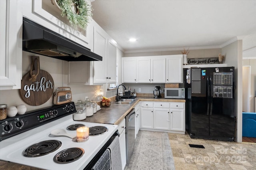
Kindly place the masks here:
[(123, 57), (122, 83), (182, 83), (182, 55)]

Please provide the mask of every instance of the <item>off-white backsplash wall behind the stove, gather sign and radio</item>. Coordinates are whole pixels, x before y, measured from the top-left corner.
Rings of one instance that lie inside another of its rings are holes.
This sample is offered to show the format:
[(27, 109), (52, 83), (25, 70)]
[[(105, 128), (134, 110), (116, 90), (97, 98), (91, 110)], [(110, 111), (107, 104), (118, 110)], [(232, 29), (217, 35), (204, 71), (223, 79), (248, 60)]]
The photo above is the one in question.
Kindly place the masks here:
[[(26, 51), (22, 52), (22, 76), (30, 71), (31, 57), (33, 53)], [(72, 101), (76, 102), (79, 99), (84, 100), (85, 96), (89, 99), (96, 100), (96, 92), (99, 91), (100, 85), (67, 85), (68, 82), (68, 62), (51, 57), (40, 56), (40, 69), (50, 73), (54, 80), (54, 91), (57, 87), (71, 87)], [(81, 74), (82, 76), (82, 74)], [(27, 111), (33, 111), (44, 107), (53, 105), (53, 95), (44, 104), (40, 106), (30, 106), (26, 104), (20, 97), (20, 90), (1, 90), (0, 91), (0, 103), (7, 104), (8, 106), (17, 106), (24, 104), (28, 108)]]

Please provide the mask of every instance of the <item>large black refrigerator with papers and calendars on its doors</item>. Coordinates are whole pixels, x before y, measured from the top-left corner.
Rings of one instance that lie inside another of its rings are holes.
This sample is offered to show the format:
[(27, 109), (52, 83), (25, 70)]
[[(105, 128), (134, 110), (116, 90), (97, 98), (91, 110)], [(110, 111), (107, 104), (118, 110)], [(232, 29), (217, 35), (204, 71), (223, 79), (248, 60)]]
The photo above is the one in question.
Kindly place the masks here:
[(234, 141), (234, 67), (184, 69), (186, 130), (191, 138)]

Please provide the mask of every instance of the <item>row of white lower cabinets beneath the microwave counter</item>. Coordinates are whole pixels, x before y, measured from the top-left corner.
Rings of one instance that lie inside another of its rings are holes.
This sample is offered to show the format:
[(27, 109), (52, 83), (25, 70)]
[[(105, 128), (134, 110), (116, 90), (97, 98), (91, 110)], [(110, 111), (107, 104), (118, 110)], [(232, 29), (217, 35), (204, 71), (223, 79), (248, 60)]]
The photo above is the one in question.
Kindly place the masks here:
[(185, 103), (142, 102), (140, 128), (185, 134)]

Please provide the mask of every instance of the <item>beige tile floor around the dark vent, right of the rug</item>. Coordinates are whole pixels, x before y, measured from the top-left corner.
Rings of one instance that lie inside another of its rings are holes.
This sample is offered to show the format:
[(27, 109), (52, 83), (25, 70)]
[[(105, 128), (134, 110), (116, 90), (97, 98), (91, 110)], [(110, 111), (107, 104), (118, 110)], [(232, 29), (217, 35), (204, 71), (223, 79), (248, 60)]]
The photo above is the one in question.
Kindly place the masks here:
[[(176, 170), (256, 170), (256, 144), (192, 139), (169, 133)], [(199, 144), (205, 148), (191, 148)]]

